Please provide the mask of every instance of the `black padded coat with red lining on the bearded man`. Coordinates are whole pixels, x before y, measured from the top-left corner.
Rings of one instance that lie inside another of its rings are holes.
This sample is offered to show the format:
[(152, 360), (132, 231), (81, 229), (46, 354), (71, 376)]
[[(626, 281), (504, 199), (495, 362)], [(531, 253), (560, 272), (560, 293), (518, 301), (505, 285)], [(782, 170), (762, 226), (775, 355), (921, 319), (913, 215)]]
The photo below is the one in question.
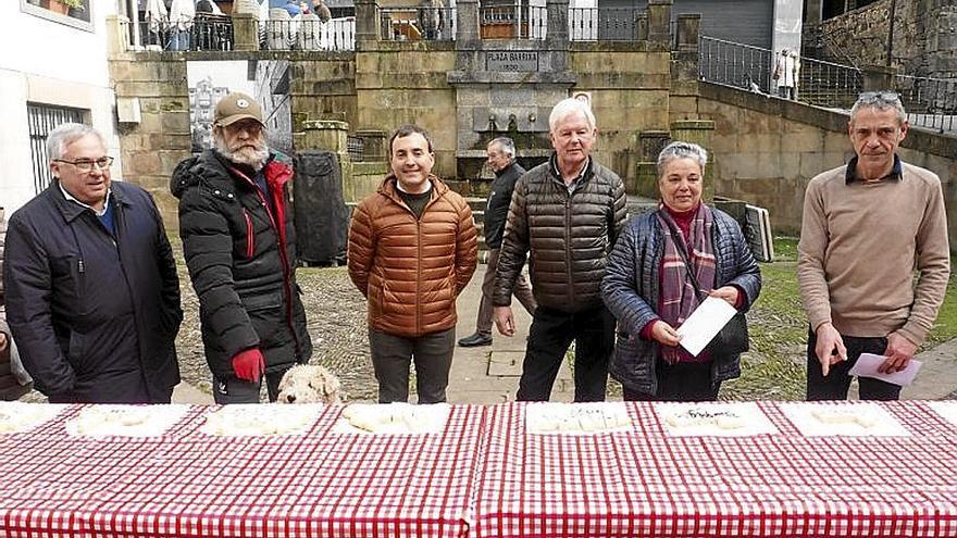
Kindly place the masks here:
[(296, 285), (293, 164), (273, 154), (262, 173), (269, 201), (251, 168), (207, 150), (181, 162), (170, 184), (179, 198), (179, 237), (199, 297), (206, 360), (219, 378), (235, 375), (232, 359), (246, 349), (259, 348), (270, 373), (312, 355)]

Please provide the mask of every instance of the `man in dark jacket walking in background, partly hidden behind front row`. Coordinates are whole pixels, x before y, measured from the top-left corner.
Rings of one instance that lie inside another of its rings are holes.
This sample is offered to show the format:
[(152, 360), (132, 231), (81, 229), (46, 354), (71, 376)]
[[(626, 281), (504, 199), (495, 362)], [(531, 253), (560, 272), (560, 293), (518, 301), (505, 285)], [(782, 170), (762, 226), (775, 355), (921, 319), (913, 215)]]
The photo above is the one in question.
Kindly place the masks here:
[[(501, 236), (505, 234), (505, 220), (512, 200), (515, 182), (525, 173), (515, 162), (515, 142), (511, 138), (496, 138), (488, 142), (485, 150), (488, 166), (495, 172), (495, 180), (488, 189), (488, 203), (485, 208), (485, 246), (488, 247), (488, 259), (485, 265), (485, 278), (482, 280), (482, 302), (478, 304), (478, 320), (475, 322), (475, 334), (459, 340), (459, 346), (472, 348), (492, 345), (492, 292), (495, 286), (495, 271), (498, 267), (498, 255), (501, 249)], [(519, 273), (513, 290), (515, 298), (525, 306), (530, 314), (535, 313), (535, 298), (532, 287)]]

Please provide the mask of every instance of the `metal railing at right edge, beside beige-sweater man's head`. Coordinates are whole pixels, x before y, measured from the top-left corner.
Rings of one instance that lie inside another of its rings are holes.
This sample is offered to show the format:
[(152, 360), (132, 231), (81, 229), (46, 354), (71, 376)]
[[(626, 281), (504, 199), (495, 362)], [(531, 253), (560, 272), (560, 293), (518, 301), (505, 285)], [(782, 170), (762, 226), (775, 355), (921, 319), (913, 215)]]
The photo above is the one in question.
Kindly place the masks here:
[(897, 75), (893, 89), (910, 125), (941, 133), (957, 129), (957, 80)]

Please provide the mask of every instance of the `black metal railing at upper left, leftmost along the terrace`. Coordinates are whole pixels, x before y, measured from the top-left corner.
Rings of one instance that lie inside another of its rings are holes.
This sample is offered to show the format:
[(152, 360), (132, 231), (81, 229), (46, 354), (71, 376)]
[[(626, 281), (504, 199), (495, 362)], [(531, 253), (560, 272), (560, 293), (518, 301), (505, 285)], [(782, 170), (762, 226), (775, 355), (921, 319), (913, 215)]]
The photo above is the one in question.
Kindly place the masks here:
[(148, 50), (233, 50), (233, 20), (228, 15), (204, 13), (186, 24), (140, 21), (138, 30), (130, 35), (133, 45)]

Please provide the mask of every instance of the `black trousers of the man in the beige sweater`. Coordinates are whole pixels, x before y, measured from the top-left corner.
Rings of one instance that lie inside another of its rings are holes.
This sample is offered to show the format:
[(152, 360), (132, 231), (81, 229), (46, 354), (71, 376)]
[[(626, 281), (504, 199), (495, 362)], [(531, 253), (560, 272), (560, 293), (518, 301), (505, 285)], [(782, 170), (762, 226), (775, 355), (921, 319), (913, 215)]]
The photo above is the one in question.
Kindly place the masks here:
[[(828, 377), (821, 373), (821, 362), (815, 353), (818, 343), (817, 335), (808, 331), (808, 372), (807, 372), (807, 399), (808, 400), (844, 400), (850, 389), (852, 376), (847, 373), (861, 353), (874, 353), (882, 355), (887, 350), (887, 339), (882, 336), (855, 337), (844, 336), (844, 347), (847, 348), (847, 360), (831, 365)], [(882, 381), (873, 377), (858, 377), (858, 391), (861, 400), (898, 400), (900, 399), (900, 386), (893, 383)]]

